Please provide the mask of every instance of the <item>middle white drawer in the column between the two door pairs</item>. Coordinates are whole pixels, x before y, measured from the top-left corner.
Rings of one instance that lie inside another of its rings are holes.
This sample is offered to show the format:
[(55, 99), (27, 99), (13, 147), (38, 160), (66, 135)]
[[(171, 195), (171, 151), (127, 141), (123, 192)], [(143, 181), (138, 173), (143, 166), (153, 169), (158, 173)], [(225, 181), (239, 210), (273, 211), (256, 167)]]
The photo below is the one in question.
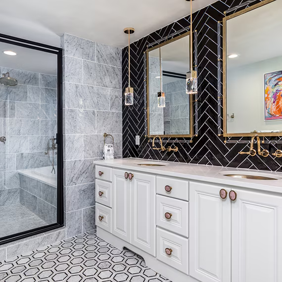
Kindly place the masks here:
[(157, 226), (188, 237), (189, 203), (157, 195)]

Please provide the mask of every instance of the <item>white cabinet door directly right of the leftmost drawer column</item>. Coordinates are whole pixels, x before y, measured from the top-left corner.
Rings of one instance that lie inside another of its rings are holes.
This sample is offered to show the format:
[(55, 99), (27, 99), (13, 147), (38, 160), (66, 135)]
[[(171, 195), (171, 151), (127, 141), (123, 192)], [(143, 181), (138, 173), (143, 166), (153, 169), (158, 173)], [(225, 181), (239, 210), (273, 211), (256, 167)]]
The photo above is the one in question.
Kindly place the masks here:
[(114, 169), (112, 187), (112, 234), (130, 242), (130, 180)]

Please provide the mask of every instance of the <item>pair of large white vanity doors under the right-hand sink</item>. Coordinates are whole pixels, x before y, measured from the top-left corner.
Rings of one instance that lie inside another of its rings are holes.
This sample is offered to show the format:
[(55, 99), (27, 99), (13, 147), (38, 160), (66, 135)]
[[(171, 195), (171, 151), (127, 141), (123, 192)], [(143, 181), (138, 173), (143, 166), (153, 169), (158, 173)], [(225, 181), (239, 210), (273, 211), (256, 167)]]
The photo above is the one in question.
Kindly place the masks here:
[(281, 196), (190, 182), (190, 276), (201, 282), (282, 281), (281, 242)]

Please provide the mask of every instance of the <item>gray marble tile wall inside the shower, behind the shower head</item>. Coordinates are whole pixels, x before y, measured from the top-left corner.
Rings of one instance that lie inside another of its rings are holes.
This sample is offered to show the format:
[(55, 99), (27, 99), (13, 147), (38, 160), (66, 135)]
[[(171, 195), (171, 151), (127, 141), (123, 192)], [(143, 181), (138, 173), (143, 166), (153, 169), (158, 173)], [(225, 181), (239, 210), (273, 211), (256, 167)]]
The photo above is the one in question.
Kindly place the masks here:
[(19, 202), (18, 170), (49, 166), (47, 141), (56, 135), (57, 77), (0, 67), (18, 81), (0, 84), (0, 205)]

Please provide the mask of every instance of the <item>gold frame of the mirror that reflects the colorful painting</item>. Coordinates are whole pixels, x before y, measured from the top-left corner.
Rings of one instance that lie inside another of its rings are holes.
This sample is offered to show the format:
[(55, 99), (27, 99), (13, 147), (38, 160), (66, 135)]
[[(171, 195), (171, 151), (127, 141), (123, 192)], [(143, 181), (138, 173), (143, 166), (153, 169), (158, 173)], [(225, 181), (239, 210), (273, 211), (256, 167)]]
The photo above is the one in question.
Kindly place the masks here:
[(252, 5), (248, 8), (245, 8), (241, 11), (238, 11), (232, 15), (226, 16), (223, 18), (223, 136), (224, 137), (245, 137), (245, 136), (253, 136), (253, 135), (258, 135), (258, 136), (282, 136), (282, 132), (250, 132), (250, 133), (227, 133), (227, 87), (226, 87), (226, 26), (227, 26), (227, 21), (235, 18), (239, 15), (242, 15), (244, 13), (247, 13), (251, 10), (254, 10), (256, 8), (259, 8), (261, 6), (264, 6), (268, 3), (271, 3), (275, 0), (264, 0), (260, 3), (257, 3), (255, 5)]

